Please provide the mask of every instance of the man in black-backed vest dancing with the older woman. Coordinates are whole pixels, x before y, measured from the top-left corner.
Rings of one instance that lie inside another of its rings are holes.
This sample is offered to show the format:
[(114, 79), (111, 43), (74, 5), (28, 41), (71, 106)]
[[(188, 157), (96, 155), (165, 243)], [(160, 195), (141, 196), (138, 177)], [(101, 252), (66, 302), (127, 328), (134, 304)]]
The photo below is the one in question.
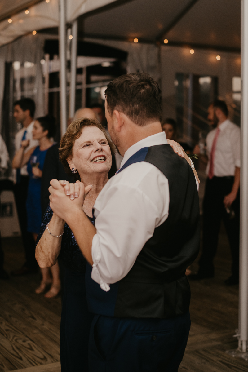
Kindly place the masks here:
[(49, 188), (51, 208), (92, 266), (89, 370), (176, 372), (190, 329), (185, 271), (199, 250), (198, 184), (191, 161), (174, 153), (161, 130), (153, 78), (123, 75), (105, 94), (108, 129), (123, 160), (96, 199), (95, 227), (82, 211), (90, 186), (74, 184), (74, 200), (57, 180)]

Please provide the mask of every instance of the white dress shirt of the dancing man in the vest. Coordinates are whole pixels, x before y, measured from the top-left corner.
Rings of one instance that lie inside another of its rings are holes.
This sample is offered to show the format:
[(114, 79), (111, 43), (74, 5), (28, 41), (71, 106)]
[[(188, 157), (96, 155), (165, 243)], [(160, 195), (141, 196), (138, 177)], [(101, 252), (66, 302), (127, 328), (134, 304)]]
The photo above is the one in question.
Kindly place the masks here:
[[(164, 132), (144, 138), (129, 147), (121, 167), (141, 148), (162, 144)], [(104, 291), (131, 270), (155, 227), (167, 219), (169, 202), (168, 179), (146, 161), (129, 165), (103, 187), (94, 204), (91, 278)]]

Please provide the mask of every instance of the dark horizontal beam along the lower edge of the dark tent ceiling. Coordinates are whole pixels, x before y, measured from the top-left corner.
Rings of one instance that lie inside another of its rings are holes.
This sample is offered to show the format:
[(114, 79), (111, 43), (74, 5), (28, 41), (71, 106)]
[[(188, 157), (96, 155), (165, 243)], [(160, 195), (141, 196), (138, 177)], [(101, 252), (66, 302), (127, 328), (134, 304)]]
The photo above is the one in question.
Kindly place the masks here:
[[(89, 39), (133, 42), (133, 38), (129, 38), (127, 36), (102, 35), (102, 34), (83, 33), (83, 32), (80, 32), (78, 37), (81, 40), (83, 40), (84, 38), (89, 38)], [(155, 39), (146, 39), (146, 38), (139, 38), (138, 42), (145, 43), (145, 44), (157, 44), (157, 41)], [(229, 52), (229, 53), (240, 53), (241, 52), (240, 48), (235, 48), (235, 47), (225, 47), (223, 45), (212, 45), (212, 44), (187, 43), (185, 41), (168, 41), (167, 44), (163, 44), (163, 45), (165, 48), (167, 46), (170, 46), (170, 47), (183, 47), (183, 48), (191, 48), (191, 49), (214, 50), (214, 51)]]

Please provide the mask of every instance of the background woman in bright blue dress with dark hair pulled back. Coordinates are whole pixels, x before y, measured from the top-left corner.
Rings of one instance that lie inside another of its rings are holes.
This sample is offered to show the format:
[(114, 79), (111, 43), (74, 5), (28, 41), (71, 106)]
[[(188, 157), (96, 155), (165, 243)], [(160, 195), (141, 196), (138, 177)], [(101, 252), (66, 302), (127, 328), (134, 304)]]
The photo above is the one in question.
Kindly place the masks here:
[[(33, 125), (33, 139), (39, 141), (39, 146), (30, 148), (25, 152), (29, 145), (29, 140), (22, 141), (21, 148), (17, 151), (13, 159), (13, 167), (20, 168), (28, 164), (29, 185), (28, 197), (26, 202), (28, 228), (32, 232), (36, 241), (40, 231), (42, 212), (41, 212), (41, 177), (44, 161), (47, 150), (53, 145), (51, 140), (56, 131), (55, 119), (50, 116), (44, 116), (36, 119)], [(50, 290), (45, 294), (45, 297), (51, 298), (60, 291), (59, 267), (56, 263), (50, 273), (50, 269), (41, 269), (42, 281), (41, 285), (35, 290), (37, 294), (45, 291), (47, 286), (51, 285)], [(52, 278), (51, 278), (52, 274)]]

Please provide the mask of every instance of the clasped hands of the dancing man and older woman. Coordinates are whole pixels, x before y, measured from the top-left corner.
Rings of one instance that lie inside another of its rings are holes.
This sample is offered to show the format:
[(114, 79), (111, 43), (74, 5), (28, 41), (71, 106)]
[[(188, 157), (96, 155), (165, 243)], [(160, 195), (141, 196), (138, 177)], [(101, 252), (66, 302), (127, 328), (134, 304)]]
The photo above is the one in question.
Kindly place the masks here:
[(84, 186), (83, 182), (69, 183), (64, 180), (53, 179), (50, 181), (50, 207), (61, 219), (68, 222), (78, 211), (82, 211), (84, 199), (92, 186)]

